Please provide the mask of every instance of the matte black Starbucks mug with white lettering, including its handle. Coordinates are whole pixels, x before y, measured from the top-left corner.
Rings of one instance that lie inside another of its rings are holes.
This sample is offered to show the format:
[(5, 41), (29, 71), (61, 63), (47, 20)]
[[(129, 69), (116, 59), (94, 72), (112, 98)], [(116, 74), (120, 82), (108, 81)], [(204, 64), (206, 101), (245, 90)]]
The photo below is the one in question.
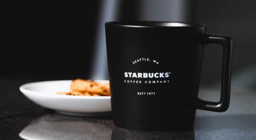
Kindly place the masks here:
[[(143, 130), (193, 129), (196, 108), (226, 111), (232, 39), (182, 22), (107, 22), (106, 49), (113, 122)], [(198, 98), (204, 45), (223, 46), (219, 102)]]

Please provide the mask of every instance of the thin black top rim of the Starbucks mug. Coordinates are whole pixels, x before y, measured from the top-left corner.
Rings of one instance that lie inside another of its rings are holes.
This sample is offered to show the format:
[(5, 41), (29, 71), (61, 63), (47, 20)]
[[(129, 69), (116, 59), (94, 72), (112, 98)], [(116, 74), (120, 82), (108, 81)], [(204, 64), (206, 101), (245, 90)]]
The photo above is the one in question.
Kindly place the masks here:
[(204, 24), (173, 21), (110, 21), (105, 25), (122, 27), (206, 27)]

